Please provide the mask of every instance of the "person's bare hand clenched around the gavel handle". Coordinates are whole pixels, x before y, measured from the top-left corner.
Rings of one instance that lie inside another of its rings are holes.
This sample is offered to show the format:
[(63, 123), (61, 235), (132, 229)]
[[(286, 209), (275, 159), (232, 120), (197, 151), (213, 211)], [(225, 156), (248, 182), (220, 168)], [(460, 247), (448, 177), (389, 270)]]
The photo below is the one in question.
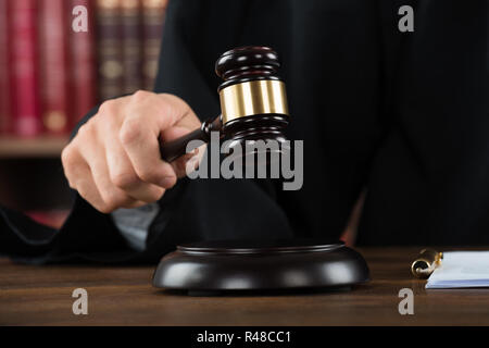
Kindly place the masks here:
[(70, 186), (97, 210), (158, 201), (185, 175), (186, 154), (161, 159), (159, 137), (170, 141), (200, 126), (190, 107), (172, 95), (138, 91), (105, 101), (62, 152)]

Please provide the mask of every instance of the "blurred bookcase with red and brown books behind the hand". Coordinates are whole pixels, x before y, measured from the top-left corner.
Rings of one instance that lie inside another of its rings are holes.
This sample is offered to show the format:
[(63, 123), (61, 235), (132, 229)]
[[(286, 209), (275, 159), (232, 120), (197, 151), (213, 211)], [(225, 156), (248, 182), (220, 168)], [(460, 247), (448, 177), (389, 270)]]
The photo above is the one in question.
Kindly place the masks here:
[(98, 102), (153, 88), (166, 4), (0, 0), (2, 206), (62, 224), (71, 192), (60, 154), (71, 129)]

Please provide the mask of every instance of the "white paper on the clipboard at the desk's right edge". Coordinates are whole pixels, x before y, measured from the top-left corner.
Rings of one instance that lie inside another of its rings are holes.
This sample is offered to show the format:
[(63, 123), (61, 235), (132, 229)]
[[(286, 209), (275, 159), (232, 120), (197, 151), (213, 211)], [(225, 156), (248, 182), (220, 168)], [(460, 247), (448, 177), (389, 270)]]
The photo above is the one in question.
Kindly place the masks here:
[(426, 283), (427, 289), (462, 287), (489, 287), (489, 251), (443, 252)]

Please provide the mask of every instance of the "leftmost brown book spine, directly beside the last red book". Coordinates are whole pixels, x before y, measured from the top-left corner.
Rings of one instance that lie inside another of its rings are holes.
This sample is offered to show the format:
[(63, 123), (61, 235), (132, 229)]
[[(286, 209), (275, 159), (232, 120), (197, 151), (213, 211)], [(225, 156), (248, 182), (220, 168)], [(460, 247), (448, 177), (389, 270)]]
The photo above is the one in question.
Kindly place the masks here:
[(106, 100), (123, 92), (120, 0), (97, 0), (99, 97)]

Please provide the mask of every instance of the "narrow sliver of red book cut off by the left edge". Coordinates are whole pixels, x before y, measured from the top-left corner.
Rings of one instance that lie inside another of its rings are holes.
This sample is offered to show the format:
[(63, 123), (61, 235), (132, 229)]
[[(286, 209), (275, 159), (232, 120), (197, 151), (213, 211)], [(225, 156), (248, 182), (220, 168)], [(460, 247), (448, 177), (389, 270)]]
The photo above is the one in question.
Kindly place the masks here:
[(10, 133), (8, 0), (0, 0), (0, 135)]

